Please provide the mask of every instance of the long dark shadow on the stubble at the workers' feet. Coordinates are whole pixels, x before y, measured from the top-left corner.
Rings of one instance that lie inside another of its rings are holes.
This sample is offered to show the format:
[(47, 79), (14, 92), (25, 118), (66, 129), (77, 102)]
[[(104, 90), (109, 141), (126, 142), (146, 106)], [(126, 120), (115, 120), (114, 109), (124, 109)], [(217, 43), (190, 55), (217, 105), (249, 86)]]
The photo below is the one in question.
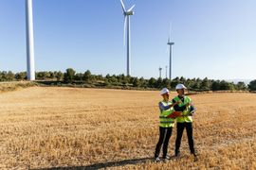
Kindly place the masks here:
[(109, 168), (109, 167), (117, 167), (117, 166), (125, 166), (129, 164), (137, 164), (137, 163), (144, 163), (147, 161), (152, 161), (153, 158), (141, 158), (141, 159), (133, 159), (133, 160), (123, 160), (123, 161), (109, 161), (103, 163), (95, 163), (86, 166), (69, 166), (69, 167), (52, 167), (52, 168), (43, 168), (38, 170), (67, 170), (67, 169), (78, 169), (78, 170), (87, 170), (87, 169), (101, 169), (101, 168)]

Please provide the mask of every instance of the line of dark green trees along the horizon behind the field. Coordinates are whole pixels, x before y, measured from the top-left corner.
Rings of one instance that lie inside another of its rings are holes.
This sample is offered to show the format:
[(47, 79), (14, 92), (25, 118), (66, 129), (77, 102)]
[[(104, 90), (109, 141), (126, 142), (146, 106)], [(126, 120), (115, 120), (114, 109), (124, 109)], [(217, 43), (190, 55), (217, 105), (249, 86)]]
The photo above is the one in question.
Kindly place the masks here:
[[(26, 80), (27, 73), (19, 72), (0, 72), (0, 81), (20, 81)], [(252, 80), (248, 85), (245, 82), (228, 82), (226, 80), (214, 80), (205, 77), (185, 78), (175, 77), (170, 80), (168, 78), (149, 79), (135, 76), (124, 75), (92, 75), (89, 70), (84, 73), (77, 73), (74, 69), (68, 68), (65, 72), (36, 72), (36, 80), (39, 81), (55, 81), (64, 84), (85, 84), (86, 87), (111, 87), (111, 88), (137, 88), (137, 89), (160, 89), (167, 87), (174, 90), (176, 84), (183, 83), (191, 91), (256, 91), (256, 79)]]

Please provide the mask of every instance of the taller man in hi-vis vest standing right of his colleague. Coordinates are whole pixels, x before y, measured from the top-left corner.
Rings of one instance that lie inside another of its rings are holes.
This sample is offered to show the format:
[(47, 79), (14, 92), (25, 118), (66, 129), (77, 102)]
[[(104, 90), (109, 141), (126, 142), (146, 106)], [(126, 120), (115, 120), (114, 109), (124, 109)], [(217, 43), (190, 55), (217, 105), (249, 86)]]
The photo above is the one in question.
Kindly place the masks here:
[(182, 111), (181, 116), (176, 119), (177, 136), (175, 141), (175, 157), (178, 158), (180, 156), (179, 147), (184, 128), (186, 128), (191, 154), (196, 158), (192, 137), (192, 114), (194, 112), (192, 100), (190, 97), (185, 95), (185, 90), (187, 88), (183, 84), (176, 85), (175, 89), (178, 95), (174, 97), (173, 102), (181, 102), (174, 106), (174, 110)]

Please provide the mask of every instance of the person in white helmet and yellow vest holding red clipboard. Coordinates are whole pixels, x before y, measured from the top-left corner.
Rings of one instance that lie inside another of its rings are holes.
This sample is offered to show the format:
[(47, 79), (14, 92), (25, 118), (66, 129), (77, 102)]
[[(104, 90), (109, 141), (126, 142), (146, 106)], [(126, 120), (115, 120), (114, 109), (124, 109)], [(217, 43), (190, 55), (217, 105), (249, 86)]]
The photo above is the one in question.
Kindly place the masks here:
[(167, 156), (168, 144), (170, 137), (172, 135), (172, 130), (174, 127), (174, 119), (179, 116), (181, 112), (174, 112), (174, 106), (178, 104), (179, 100), (175, 101), (174, 104), (169, 101), (169, 90), (163, 88), (160, 92), (163, 100), (159, 102), (158, 106), (160, 109), (160, 122), (159, 122), (159, 140), (155, 146), (155, 161), (160, 161), (159, 153), (161, 146), (163, 144), (163, 159), (164, 161), (170, 160)]

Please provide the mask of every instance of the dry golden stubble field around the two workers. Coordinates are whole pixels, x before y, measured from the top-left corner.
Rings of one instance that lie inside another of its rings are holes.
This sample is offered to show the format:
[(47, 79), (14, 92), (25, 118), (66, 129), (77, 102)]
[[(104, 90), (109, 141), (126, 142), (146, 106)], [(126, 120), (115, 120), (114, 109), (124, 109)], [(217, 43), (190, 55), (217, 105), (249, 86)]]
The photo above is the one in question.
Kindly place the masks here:
[[(256, 169), (256, 94), (191, 97), (198, 161), (184, 133), (182, 158), (155, 163), (158, 92), (31, 87), (0, 93), (0, 169)], [(174, 138), (175, 130), (170, 155)]]

